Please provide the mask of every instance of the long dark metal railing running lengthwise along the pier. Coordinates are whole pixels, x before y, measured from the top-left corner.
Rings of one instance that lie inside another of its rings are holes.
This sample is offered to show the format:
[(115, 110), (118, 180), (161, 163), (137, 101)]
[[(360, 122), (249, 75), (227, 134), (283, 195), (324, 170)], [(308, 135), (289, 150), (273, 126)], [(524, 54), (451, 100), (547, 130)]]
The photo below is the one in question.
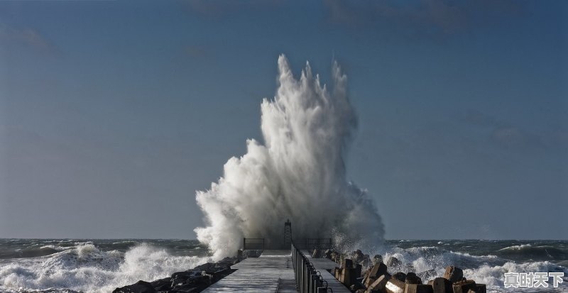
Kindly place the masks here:
[(292, 241), (292, 264), (296, 277), (297, 292), (333, 292), (332, 288), (327, 287), (327, 281), (322, 277), (322, 273), (315, 270), (312, 262), (296, 247), (294, 241)]

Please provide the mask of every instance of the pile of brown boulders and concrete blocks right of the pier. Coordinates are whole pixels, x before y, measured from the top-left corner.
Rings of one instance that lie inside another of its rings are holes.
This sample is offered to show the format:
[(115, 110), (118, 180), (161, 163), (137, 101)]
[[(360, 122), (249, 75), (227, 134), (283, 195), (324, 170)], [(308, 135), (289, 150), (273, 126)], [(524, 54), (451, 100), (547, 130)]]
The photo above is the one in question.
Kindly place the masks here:
[[(317, 251), (317, 250), (316, 250)], [(332, 250), (314, 252), (315, 256), (329, 258), (340, 264), (332, 275), (356, 293), (486, 293), (485, 284), (466, 280), (459, 267), (446, 267), (443, 277), (436, 277), (435, 270), (415, 272), (410, 264), (403, 264), (391, 257), (383, 263), (381, 255), (372, 259), (356, 250), (342, 255)], [(363, 268), (366, 267), (366, 270)], [(408, 273), (400, 272), (405, 270)], [(392, 274), (390, 272), (393, 272)], [(430, 280), (423, 283), (422, 280)]]

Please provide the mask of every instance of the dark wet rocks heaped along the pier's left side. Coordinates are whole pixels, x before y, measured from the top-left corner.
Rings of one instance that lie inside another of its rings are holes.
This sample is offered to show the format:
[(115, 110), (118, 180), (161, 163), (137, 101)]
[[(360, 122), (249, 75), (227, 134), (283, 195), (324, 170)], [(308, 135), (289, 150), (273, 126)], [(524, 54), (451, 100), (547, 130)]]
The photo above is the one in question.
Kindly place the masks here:
[[(239, 255), (240, 256), (240, 255)], [(174, 272), (170, 277), (165, 277), (153, 282), (138, 281), (121, 288), (114, 289), (113, 293), (188, 293), (202, 292), (209, 285), (231, 274), (231, 265), (241, 261), (237, 258), (224, 258), (219, 262), (207, 262), (198, 265), (191, 270)]]

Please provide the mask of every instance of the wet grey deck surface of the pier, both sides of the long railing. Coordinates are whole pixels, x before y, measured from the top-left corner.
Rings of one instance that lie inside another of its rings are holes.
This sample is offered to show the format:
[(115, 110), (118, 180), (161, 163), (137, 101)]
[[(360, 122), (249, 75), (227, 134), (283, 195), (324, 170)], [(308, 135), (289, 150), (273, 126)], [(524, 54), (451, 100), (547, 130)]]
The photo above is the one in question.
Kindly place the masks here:
[[(331, 260), (315, 258), (314, 267), (320, 270), (334, 293), (350, 292), (327, 270), (337, 264)], [(329, 267), (329, 268), (327, 268)], [(246, 258), (232, 265), (231, 275), (207, 287), (204, 293), (214, 292), (283, 292), (297, 293), (290, 250), (265, 250), (260, 258)]]

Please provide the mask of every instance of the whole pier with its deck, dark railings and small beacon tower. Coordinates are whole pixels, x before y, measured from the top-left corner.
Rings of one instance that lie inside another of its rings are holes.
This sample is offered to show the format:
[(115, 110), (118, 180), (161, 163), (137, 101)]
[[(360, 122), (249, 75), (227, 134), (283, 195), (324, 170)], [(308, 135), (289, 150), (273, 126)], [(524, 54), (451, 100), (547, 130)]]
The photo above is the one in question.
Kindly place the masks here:
[(308, 238), (302, 245), (297, 245), (292, 239), (290, 221), (286, 221), (284, 227), (283, 246), (289, 249), (269, 250), (265, 249), (263, 238), (244, 238), (244, 250), (262, 250), (261, 255), (232, 265), (231, 270), (235, 272), (203, 292), (351, 292), (329, 272), (338, 266), (336, 262), (327, 258), (311, 258), (307, 253), (307, 248), (331, 246), (331, 239)]

